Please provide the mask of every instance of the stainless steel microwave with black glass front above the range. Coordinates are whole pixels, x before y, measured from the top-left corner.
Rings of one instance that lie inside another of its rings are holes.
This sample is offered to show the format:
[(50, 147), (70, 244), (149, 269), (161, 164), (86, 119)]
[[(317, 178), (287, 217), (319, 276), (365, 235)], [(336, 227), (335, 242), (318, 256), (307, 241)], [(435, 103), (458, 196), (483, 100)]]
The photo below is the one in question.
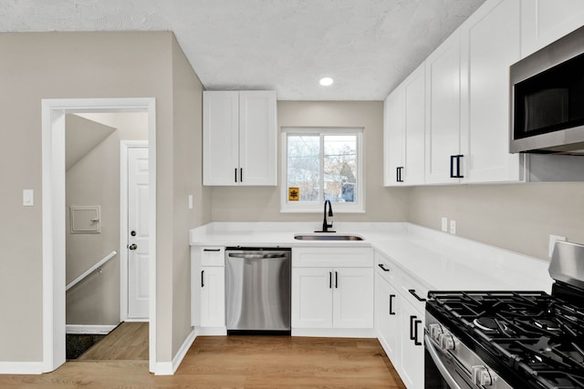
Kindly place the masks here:
[(510, 68), (509, 151), (584, 155), (584, 27)]

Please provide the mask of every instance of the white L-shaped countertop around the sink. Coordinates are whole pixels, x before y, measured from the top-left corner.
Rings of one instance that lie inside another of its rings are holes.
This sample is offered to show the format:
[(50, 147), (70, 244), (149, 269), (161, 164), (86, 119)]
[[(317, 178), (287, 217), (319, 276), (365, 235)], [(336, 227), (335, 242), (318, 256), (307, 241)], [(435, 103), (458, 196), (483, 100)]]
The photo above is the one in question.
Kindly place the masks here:
[(319, 223), (213, 222), (190, 231), (193, 246), (370, 246), (434, 291), (551, 291), (548, 261), (411, 223), (341, 223), (337, 233), (363, 241), (297, 241)]

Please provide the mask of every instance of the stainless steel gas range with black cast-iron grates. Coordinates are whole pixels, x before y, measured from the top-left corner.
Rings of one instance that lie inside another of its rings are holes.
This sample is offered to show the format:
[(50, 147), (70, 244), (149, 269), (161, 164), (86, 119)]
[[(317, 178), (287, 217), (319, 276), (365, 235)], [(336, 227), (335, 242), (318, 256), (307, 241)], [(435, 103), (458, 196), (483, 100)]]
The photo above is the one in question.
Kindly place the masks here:
[(429, 292), (426, 388), (584, 388), (584, 245), (557, 242), (546, 292)]

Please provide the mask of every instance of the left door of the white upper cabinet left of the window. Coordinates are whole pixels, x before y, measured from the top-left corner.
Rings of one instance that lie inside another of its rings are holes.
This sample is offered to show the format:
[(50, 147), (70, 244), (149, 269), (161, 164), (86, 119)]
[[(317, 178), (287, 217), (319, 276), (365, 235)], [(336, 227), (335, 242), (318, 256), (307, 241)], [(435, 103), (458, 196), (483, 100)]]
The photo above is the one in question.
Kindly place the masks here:
[(235, 185), (239, 169), (239, 93), (203, 92), (203, 184)]

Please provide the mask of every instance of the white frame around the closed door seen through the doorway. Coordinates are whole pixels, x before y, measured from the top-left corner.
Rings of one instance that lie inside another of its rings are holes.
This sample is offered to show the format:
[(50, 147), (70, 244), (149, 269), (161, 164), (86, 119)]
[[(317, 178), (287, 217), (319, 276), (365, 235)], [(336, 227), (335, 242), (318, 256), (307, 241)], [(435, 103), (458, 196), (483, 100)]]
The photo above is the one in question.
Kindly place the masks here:
[[(148, 147), (149, 140), (120, 141), (120, 321), (131, 322), (128, 319), (128, 149)], [(150, 157), (149, 157), (150, 159)], [(150, 169), (150, 168), (149, 168)], [(149, 184), (150, 188), (150, 184)], [(151, 238), (149, 237), (149, 240)], [(151, 318), (150, 312), (148, 314)], [(143, 322), (143, 320), (140, 320)]]

